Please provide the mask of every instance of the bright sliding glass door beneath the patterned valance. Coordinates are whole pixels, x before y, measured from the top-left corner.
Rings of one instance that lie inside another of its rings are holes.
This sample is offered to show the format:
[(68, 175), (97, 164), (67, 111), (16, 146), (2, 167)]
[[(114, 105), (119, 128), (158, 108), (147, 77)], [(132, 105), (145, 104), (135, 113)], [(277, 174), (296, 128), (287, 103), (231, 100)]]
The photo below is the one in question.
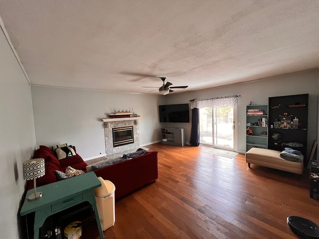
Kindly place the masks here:
[(200, 143), (235, 150), (235, 111), (234, 106), (199, 109)]

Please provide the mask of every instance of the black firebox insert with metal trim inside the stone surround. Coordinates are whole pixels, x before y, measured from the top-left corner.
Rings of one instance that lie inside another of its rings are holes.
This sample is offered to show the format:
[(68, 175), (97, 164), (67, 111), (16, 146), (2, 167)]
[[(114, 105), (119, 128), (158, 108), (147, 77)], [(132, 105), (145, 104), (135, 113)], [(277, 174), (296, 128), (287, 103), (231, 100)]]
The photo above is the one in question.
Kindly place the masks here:
[(133, 126), (112, 128), (113, 147), (134, 143)]

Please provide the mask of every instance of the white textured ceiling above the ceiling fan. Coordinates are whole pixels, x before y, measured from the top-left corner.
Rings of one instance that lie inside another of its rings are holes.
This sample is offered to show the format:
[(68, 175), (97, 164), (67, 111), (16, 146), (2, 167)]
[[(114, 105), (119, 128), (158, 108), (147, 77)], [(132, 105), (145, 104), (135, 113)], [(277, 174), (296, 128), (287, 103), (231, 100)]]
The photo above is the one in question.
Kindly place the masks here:
[(0, 17), (32, 85), (175, 94), (319, 67), (319, 0), (0, 0)]

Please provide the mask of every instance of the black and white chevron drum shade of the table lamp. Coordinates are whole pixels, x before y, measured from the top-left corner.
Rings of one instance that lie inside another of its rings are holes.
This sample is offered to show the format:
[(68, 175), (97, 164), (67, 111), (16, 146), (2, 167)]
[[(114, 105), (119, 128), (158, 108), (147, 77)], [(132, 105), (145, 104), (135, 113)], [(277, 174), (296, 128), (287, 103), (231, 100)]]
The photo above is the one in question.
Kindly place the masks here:
[(23, 162), (23, 178), (32, 180), (45, 174), (44, 158), (33, 158)]

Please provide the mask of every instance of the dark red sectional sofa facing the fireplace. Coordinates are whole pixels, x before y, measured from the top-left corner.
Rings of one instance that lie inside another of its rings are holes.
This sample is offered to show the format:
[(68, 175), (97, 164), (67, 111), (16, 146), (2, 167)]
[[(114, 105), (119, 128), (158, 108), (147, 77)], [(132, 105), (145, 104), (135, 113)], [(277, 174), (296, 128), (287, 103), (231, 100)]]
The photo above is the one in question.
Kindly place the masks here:
[[(74, 146), (73, 149), (76, 152)], [(45, 159), (45, 175), (36, 180), (37, 187), (58, 181), (55, 170), (65, 172), (68, 166), (86, 172), (87, 164), (77, 153), (73, 157), (58, 160), (49, 147), (40, 145), (35, 151), (34, 158)], [(115, 199), (118, 199), (158, 178), (158, 152), (148, 151), (142, 156), (99, 168), (93, 172), (97, 177), (114, 183)], [(32, 188), (33, 181), (28, 181), (26, 190)]]

